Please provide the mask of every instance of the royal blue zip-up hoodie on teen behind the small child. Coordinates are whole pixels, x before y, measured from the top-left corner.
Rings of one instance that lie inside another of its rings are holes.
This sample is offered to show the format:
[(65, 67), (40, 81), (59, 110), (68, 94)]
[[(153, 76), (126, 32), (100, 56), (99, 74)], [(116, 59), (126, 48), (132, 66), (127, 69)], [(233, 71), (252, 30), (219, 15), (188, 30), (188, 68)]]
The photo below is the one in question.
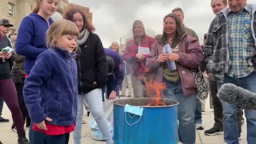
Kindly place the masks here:
[(37, 13), (31, 13), (21, 21), (15, 50), (17, 54), (26, 57), (26, 74), (30, 73), (38, 55), (47, 50), (45, 45), (46, 31), (52, 23), (52, 18), (46, 21)]

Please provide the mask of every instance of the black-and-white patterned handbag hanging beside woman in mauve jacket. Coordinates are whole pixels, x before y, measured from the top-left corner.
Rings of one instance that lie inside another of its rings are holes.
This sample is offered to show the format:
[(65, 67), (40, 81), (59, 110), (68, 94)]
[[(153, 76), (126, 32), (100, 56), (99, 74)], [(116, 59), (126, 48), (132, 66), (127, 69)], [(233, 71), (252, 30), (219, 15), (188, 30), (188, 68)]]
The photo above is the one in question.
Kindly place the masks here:
[(197, 97), (201, 100), (204, 100), (207, 98), (208, 95), (208, 86), (205, 82), (204, 75), (199, 68), (195, 70), (190, 70), (191, 73), (195, 76), (196, 79), (196, 91), (197, 91)]

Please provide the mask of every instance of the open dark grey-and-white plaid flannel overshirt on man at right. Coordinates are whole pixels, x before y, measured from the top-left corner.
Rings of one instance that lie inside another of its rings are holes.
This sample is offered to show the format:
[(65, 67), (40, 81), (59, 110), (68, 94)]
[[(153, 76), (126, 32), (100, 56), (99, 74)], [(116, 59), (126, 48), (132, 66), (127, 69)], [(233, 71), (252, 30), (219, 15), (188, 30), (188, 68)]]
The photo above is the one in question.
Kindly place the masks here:
[[(252, 7), (251, 30), (256, 45), (256, 5), (250, 4)], [(228, 23), (227, 13), (229, 8), (222, 10), (211, 22), (209, 35), (205, 44), (203, 66), (209, 76), (214, 81), (223, 82), (225, 73), (228, 72), (229, 66), (229, 48), (228, 48)], [(252, 56), (252, 55), (251, 55)]]

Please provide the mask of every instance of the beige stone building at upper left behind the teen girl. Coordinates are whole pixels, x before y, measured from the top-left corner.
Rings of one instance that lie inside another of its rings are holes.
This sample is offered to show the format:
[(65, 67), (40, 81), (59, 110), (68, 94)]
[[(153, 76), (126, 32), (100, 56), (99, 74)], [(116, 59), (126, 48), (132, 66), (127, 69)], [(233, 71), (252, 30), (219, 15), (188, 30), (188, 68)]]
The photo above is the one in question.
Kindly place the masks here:
[[(10, 33), (18, 31), (21, 20), (33, 10), (36, 0), (0, 0), (0, 19), (8, 19), (13, 27)], [(68, 0), (60, 0), (57, 12), (63, 13)]]

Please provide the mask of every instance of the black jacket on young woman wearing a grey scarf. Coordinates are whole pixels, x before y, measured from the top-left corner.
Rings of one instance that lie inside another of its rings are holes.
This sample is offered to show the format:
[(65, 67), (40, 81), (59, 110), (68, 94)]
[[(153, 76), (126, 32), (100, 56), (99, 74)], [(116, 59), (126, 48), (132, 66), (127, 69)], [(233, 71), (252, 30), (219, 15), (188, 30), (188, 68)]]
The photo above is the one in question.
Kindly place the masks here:
[(78, 92), (88, 93), (105, 87), (108, 81), (107, 60), (101, 40), (90, 33), (77, 52)]

